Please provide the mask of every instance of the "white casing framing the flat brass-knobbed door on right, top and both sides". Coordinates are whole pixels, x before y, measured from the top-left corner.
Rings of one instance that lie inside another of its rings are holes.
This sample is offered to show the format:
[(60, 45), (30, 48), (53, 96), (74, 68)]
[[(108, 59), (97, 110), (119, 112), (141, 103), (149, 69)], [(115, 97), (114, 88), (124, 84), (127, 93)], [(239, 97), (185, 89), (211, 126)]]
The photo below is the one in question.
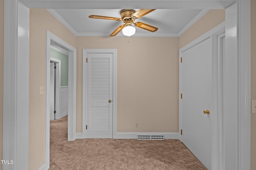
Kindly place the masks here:
[[(216, 144), (216, 142), (218, 142), (218, 140), (222, 139), (222, 135), (223, 133), (217, 133), (217, 127), (222, 127), (220, 125), (220, 121), (216, 121), (219, 119), (218, 116), (220, 115), (216, 115), (214, 114), (215, 112), (217, 112), (219, 110), (218, 105), (215, 104), (214, 101), (221, 99), (221, 96), (219, 96), (218, 94), (218, 88), (223, 88), (222, 86), (216, 86), (218, 84), (218, 77), (216, 80), (216, 76), (218, 75), (219, 70), (218, 68), (218, 57), (216, 58), (214, 55), (217, 53), (218, 54), (218, 49), (214, 48), (215, 43), (216, 43), (216, 36), (218, 37), (218, 35), (221, 35), (225, 32), (225, 21), (220, 23), (219, 25), (217, 25), (216, 27), (214, 27), (213, 29), (211, 29), (210, 31), (204, 33), (203, 35), (201, 35), (200, 37), (198, 37), (197, 39), (195, 39), (194, 41), (188, 43), (187, 45), (185, 45), (184, 47), (182, 47), (180, 49), (180, 55), (179, 57), (182, 57), (182, 53), (192, 47), (194, 47), (195, 45), (198, 45), (199, 43), (201, 43), (202, 41), (211, 38), (211, 50), (212, 50), (212, 87), (213, 87), (213, 92), (212, 92), (212, 99), (211, 99), (211, 106), (212, 106), (212, 110), (211, 110), (211, 125), (210, 125), (210, 136), (211, 136), (211, 143), (210, 143), (210, 150), (211, 150), (211, 169), (218, 169), (216, 168), (216, 166), (218, 166), (219, 164), (219, 159), (218, 156), (223, 155), (224, 150), (222, 150), (222, 153), (218, 152), (218, 145)], [(217, 43), (218, 43), (218, 39), (217, 39)], [(216, 61), (217, 60), (217, 61)], [(179, 89), (180, 89), (180, 94), (182, 94), (182, 63), (180, 62), (180, 75), (179, 75)], [(221, 85), (221, 84), (220, 84)], [(182, 129), (182, 99), (179, 99), (179, 129), (181, 131)], [(220, 130), (220, 132), (222, 132), (222, 129)], [(196, 132), (195, 132), (196, 133)], [(213, 140), (214, 139), (214, 140)], [(182, 135), (180, 135), (180, 141), (182, 141)]]

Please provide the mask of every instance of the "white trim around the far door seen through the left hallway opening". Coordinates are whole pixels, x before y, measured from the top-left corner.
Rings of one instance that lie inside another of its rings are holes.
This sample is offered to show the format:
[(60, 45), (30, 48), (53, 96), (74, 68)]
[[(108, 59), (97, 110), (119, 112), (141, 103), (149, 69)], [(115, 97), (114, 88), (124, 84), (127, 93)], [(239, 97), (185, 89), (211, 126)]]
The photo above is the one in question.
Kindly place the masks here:
[(61, 77), (61, 61), (50, 57), (50, 61), (54, 62), (57, 66), (55, 73), (55, 119), (60, 119), (60, 77)]

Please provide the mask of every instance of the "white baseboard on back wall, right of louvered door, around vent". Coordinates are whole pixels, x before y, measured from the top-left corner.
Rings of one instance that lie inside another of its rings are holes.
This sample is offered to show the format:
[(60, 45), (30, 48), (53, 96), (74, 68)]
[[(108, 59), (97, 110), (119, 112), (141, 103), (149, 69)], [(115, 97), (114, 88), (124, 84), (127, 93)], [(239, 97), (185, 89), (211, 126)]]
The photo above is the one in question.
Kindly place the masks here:
[(137, 139), (138, 134), (149, 135), (164, 135), (164, 139), (180, 139), (180, 134), (177, 132), (118, 132), (116, 133), (116, 139)]

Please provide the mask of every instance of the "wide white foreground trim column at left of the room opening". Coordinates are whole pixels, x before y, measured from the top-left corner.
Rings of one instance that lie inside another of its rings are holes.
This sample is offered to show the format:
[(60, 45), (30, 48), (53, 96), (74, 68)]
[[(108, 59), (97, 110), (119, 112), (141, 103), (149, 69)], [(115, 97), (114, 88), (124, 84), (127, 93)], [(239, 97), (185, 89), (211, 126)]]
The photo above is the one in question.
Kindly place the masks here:
[(2, 164), (3, 170), (28, 169), (29, 17), (18, 0), (4, 0), (2, 160), (14, 163)]

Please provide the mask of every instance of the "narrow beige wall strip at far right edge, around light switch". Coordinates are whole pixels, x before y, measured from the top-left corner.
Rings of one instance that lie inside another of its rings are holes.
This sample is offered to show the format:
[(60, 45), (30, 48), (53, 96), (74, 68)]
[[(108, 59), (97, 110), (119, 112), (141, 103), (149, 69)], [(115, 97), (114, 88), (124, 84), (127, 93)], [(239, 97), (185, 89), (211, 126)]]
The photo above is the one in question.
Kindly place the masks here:
[[(256, 0), (251, 0), (251, 99), (256, 99)], [(251, 114), (251, 170), (256, 170), (256, 114)]]

